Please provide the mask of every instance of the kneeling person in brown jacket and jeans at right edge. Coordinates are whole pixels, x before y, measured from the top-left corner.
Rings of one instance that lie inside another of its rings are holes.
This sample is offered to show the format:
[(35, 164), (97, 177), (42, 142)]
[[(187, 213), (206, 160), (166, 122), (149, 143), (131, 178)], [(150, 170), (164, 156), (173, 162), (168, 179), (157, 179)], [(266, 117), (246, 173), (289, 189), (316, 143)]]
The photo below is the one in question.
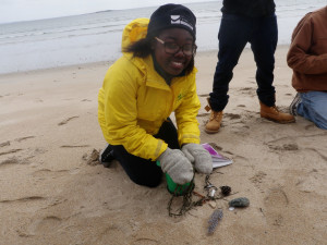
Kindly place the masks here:
[(299, 22), (287, 61), (298, 91), (291, 113), (327, 130), (327, 7), (307, 13)]

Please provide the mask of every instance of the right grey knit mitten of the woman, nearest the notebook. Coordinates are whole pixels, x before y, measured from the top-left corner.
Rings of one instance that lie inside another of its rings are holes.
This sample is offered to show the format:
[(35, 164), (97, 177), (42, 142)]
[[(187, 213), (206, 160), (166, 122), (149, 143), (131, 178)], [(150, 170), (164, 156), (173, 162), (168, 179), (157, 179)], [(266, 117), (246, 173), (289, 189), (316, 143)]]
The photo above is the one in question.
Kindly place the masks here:
[(211, 155), (202, 145), (190, 143), (182, 147), (182, 151), (197, 172), (205, 174), (213, 172)]

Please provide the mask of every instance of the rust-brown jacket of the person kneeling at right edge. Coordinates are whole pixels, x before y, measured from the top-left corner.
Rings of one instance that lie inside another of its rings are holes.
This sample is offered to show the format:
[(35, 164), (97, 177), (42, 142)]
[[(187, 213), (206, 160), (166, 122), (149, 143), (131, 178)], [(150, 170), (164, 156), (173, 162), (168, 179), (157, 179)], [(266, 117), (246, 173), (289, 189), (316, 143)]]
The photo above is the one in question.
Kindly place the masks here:
[(327, 7), (299, 22), (287, 61), (298, 91), (327, 91)]

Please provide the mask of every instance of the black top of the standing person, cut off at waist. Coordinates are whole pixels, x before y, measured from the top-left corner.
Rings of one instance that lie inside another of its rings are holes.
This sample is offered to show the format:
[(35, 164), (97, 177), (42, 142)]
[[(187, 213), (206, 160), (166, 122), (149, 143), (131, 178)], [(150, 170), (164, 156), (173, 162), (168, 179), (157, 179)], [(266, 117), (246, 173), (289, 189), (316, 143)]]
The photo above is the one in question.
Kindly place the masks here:
[(274, 0), (223, 0), (222, 13), (261, 17), (275, 13)]

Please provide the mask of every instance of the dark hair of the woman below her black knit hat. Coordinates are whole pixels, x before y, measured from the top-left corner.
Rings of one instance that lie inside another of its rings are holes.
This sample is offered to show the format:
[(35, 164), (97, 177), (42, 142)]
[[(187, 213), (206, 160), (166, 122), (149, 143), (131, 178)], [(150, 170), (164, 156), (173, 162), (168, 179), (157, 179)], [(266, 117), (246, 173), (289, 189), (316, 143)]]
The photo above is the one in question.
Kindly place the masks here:
[[(140, 58), (145, 58), (149, 54), (152, 54), (153, 49), (152, 49), (152, 41), (153, 39), (152, 36), (147, 36), (143, 39), (140, 39), (138, 41), (135, 41), (134, 44), (129, 45), (126, 48), (123, 49), (123, 52), (132, 52), (133, 57), (140, 57)], [(192, 56), (191, 62), (189, 65), (185, 68), (185, 74), (190, 74), (193, 71), (194, 68), (194, 56)]]

